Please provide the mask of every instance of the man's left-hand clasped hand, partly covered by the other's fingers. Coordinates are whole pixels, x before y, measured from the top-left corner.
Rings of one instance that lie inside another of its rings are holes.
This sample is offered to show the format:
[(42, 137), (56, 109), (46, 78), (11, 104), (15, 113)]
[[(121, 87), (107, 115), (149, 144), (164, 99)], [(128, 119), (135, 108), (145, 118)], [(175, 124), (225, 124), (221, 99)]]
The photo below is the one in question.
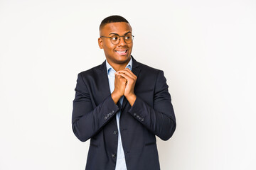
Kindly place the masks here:
[(124, 79), (124, 77), (115, 74), (114, 91), (111, 94), (114, 103), (117, 104), (119, 99), (124, 95), (126, 84), (127, 84), (127, 79)]

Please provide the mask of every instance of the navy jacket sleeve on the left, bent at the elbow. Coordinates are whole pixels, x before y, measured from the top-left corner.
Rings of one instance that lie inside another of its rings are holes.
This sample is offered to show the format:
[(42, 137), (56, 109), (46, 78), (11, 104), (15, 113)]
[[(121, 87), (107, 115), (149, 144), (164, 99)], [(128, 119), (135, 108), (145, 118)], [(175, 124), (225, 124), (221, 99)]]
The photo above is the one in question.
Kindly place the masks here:
[(81, 73), (78, 74), (73, 101), (72, 128), (75, 136), (82, 142), (97, 134), (119, 111), (111, 95), (93, 108), (90, 94)]

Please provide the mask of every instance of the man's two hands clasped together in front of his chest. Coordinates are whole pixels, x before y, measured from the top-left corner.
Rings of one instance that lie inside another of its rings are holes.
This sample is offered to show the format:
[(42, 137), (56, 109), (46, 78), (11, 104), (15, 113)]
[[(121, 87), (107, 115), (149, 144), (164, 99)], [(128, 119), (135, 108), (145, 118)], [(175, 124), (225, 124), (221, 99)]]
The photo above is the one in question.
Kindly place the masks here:
[(134, 104), (136, 95), (134, 94), (134, 86), (137, 81), (137, 76), (128, 68), (115, 72), (114, 91), (112, 98), (114, 103), (119, 101), (119, 98), (125, 96), (130, 105)]

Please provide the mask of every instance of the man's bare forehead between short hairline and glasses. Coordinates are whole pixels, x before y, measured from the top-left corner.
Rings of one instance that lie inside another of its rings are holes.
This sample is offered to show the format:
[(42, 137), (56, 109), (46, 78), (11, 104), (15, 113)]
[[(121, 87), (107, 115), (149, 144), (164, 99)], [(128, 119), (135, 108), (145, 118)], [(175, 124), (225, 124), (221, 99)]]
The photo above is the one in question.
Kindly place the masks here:
[(125, 22), (119, 22), (119, 23), (106, 23), (105, 26), (103, 26), (100, 29), (100, 34), (101, 33), (127, 33), (127, 32), (132, 33), (132, 27), (129, 25), (129, 23)]

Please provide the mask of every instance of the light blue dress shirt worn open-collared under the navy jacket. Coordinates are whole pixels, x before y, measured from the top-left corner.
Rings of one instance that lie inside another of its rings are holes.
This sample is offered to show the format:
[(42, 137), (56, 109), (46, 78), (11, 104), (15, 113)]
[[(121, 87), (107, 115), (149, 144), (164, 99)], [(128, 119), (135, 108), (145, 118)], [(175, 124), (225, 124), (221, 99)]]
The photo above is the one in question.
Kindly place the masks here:
[[(112, 94), (112, 92), (114, 91), (114, 73), (116, 71), (107, 62), (107, 60), (106, 60), (106, 66), (107, 66), (107, 77), (108, 77), (109, 84), (110, 84), (110, 93)], [(132, 58), (131, 58), (131, 60), (129, 61), (129, 63), (127, 64), (127, 66), (125, 68), (128, 68), (128, 69), (132, 70)], [(124, 101), (124, 96), (122, 96), (119, 99), (119, 102), (120, 102), (121, 106), (122, 106), (123, 101)], [(125, 163), (125, 157), (124, 157), (124, 149), (122, 147), (121, 133), (120, 133), (120, 128), (119, 128), (120, 115), (121, 115), (121, 111), (119, 111), (116, 114), (117, 130), (118, 130), (118, 145), (117, 145), (117, 164), (116, 164), (115, 170), (127, 170), (127, 166), (126, 166), (126, 163)]]

